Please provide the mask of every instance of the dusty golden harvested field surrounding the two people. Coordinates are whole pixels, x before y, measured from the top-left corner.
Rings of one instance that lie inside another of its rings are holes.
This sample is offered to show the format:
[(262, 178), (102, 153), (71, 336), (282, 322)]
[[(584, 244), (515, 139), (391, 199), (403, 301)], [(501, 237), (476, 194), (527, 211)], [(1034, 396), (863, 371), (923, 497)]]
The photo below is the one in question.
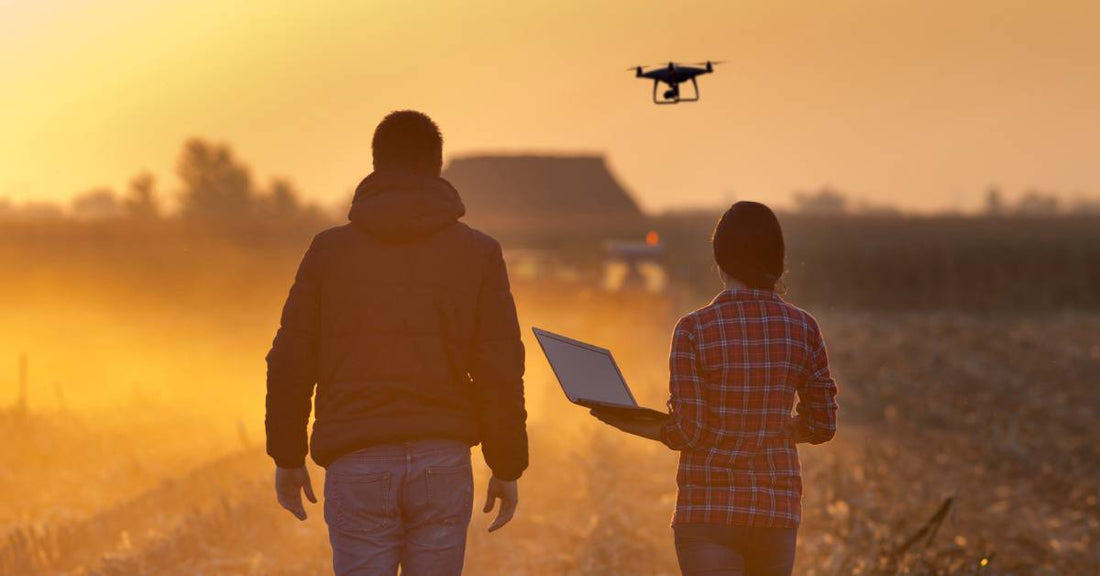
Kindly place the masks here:
[[(0, 250), (0, 297), (16, 304), (0, 317), (0, 392), (15, 398), (19, 353), (31, 368), (26, 408), (0, 413), (0, 574), (330, 574), (320, 507), (302, 523), (279, 509), (262, 448), (262, 358), (302, 236), (233, 250), (92, 236)], [(920, 295), (859, 307), (798, 272), (791, 298), (817, 313), (842, 408), (837, 437), (801, 450), (796, 574), (1100, 574), (1100, 314), (912, 304)], [(519, 286), (521, 322), (613, 347), (658, 407), (675, 314), (714, 288), (697, 274), (667, 309)], [(676, 574), (674, 454), (565, 402), (532, 346), (528, 366), (520, 512), (492, 535), (475, 513), (468, 574)]]

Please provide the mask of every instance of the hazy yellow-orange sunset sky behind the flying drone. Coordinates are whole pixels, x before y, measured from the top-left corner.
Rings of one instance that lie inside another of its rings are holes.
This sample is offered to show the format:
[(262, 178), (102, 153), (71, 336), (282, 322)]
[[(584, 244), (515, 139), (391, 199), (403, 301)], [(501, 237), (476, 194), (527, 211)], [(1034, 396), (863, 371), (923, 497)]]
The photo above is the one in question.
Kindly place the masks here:
[[(623, 71), (726, 59), (656, 107)], [(1100, 196), (1100, 2), (0, 0), (0, 196), (65, 199), (184, 139), (323, 202), (417, 108), (448, 153), (604, 152), (642, 203), (831, 182), (914, 209)]]

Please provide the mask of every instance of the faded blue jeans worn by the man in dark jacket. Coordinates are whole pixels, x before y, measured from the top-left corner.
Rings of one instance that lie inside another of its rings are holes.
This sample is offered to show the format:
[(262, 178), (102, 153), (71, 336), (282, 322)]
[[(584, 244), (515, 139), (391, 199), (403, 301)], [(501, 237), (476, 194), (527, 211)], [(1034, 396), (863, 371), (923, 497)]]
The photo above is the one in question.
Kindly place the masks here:
[(329, 464), (324, 521), (336, 576), (459, 576), (473, 511), (470, 446), (387, 444)]

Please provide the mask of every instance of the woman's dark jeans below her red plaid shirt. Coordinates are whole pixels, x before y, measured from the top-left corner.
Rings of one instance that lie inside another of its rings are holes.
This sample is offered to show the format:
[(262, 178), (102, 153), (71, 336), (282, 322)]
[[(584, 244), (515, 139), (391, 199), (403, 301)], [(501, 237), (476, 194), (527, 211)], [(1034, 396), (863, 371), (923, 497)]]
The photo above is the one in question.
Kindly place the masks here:
[(676, 524), (684, 576), (791, 576), (796, 528)]

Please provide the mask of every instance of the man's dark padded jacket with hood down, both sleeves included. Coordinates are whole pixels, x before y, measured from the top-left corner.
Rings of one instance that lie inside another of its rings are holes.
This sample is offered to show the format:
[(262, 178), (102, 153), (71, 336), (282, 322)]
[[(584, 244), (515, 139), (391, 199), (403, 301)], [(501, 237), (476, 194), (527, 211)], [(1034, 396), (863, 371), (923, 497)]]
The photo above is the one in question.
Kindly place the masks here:
[(481, 443), (493, 474), (527, 467), (524, 345), (501, 245), (459, 222), (444, 179), (375, 171), (350, 223), (318, 234), (267, 354), (267, 453), (321, 466), (422, 439)]

